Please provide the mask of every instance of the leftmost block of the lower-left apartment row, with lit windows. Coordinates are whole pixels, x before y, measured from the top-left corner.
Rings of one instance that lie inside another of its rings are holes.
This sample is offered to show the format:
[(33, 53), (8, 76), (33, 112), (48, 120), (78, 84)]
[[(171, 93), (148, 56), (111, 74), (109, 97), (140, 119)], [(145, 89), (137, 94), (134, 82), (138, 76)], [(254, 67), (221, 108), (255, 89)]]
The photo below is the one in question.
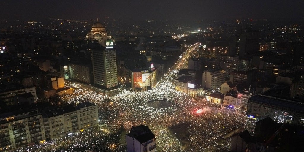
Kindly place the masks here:
[(46, 138), (41, 110), (20, 109), (0, 115), (0, 120), (2, 150), (38, 143)]

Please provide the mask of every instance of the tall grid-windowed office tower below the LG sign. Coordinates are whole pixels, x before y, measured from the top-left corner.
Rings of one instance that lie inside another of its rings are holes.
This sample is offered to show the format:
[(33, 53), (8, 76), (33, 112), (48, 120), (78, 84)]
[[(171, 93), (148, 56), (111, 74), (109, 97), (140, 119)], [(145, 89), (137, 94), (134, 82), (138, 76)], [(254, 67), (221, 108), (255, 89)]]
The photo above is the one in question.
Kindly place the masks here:
[(116, 87), (117, 65), (116, 50), (92, 50), (94, 84), (102, 85), (105, 88)]

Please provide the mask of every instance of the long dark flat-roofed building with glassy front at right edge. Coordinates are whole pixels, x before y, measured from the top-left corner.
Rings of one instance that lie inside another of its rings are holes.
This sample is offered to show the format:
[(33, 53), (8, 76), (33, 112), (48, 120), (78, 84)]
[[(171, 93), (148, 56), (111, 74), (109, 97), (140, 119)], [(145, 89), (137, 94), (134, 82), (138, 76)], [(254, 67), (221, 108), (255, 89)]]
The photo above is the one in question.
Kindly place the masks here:
[(247, 115), (258, 119), (263, 119), (267, 116), (274, 119), (279, 116), (293, 115), (293, 123), (303, 122), (303, 100), (288, 98), (289, 91), (289, 85), (279, 85), (252, 96), (248, 100)]

